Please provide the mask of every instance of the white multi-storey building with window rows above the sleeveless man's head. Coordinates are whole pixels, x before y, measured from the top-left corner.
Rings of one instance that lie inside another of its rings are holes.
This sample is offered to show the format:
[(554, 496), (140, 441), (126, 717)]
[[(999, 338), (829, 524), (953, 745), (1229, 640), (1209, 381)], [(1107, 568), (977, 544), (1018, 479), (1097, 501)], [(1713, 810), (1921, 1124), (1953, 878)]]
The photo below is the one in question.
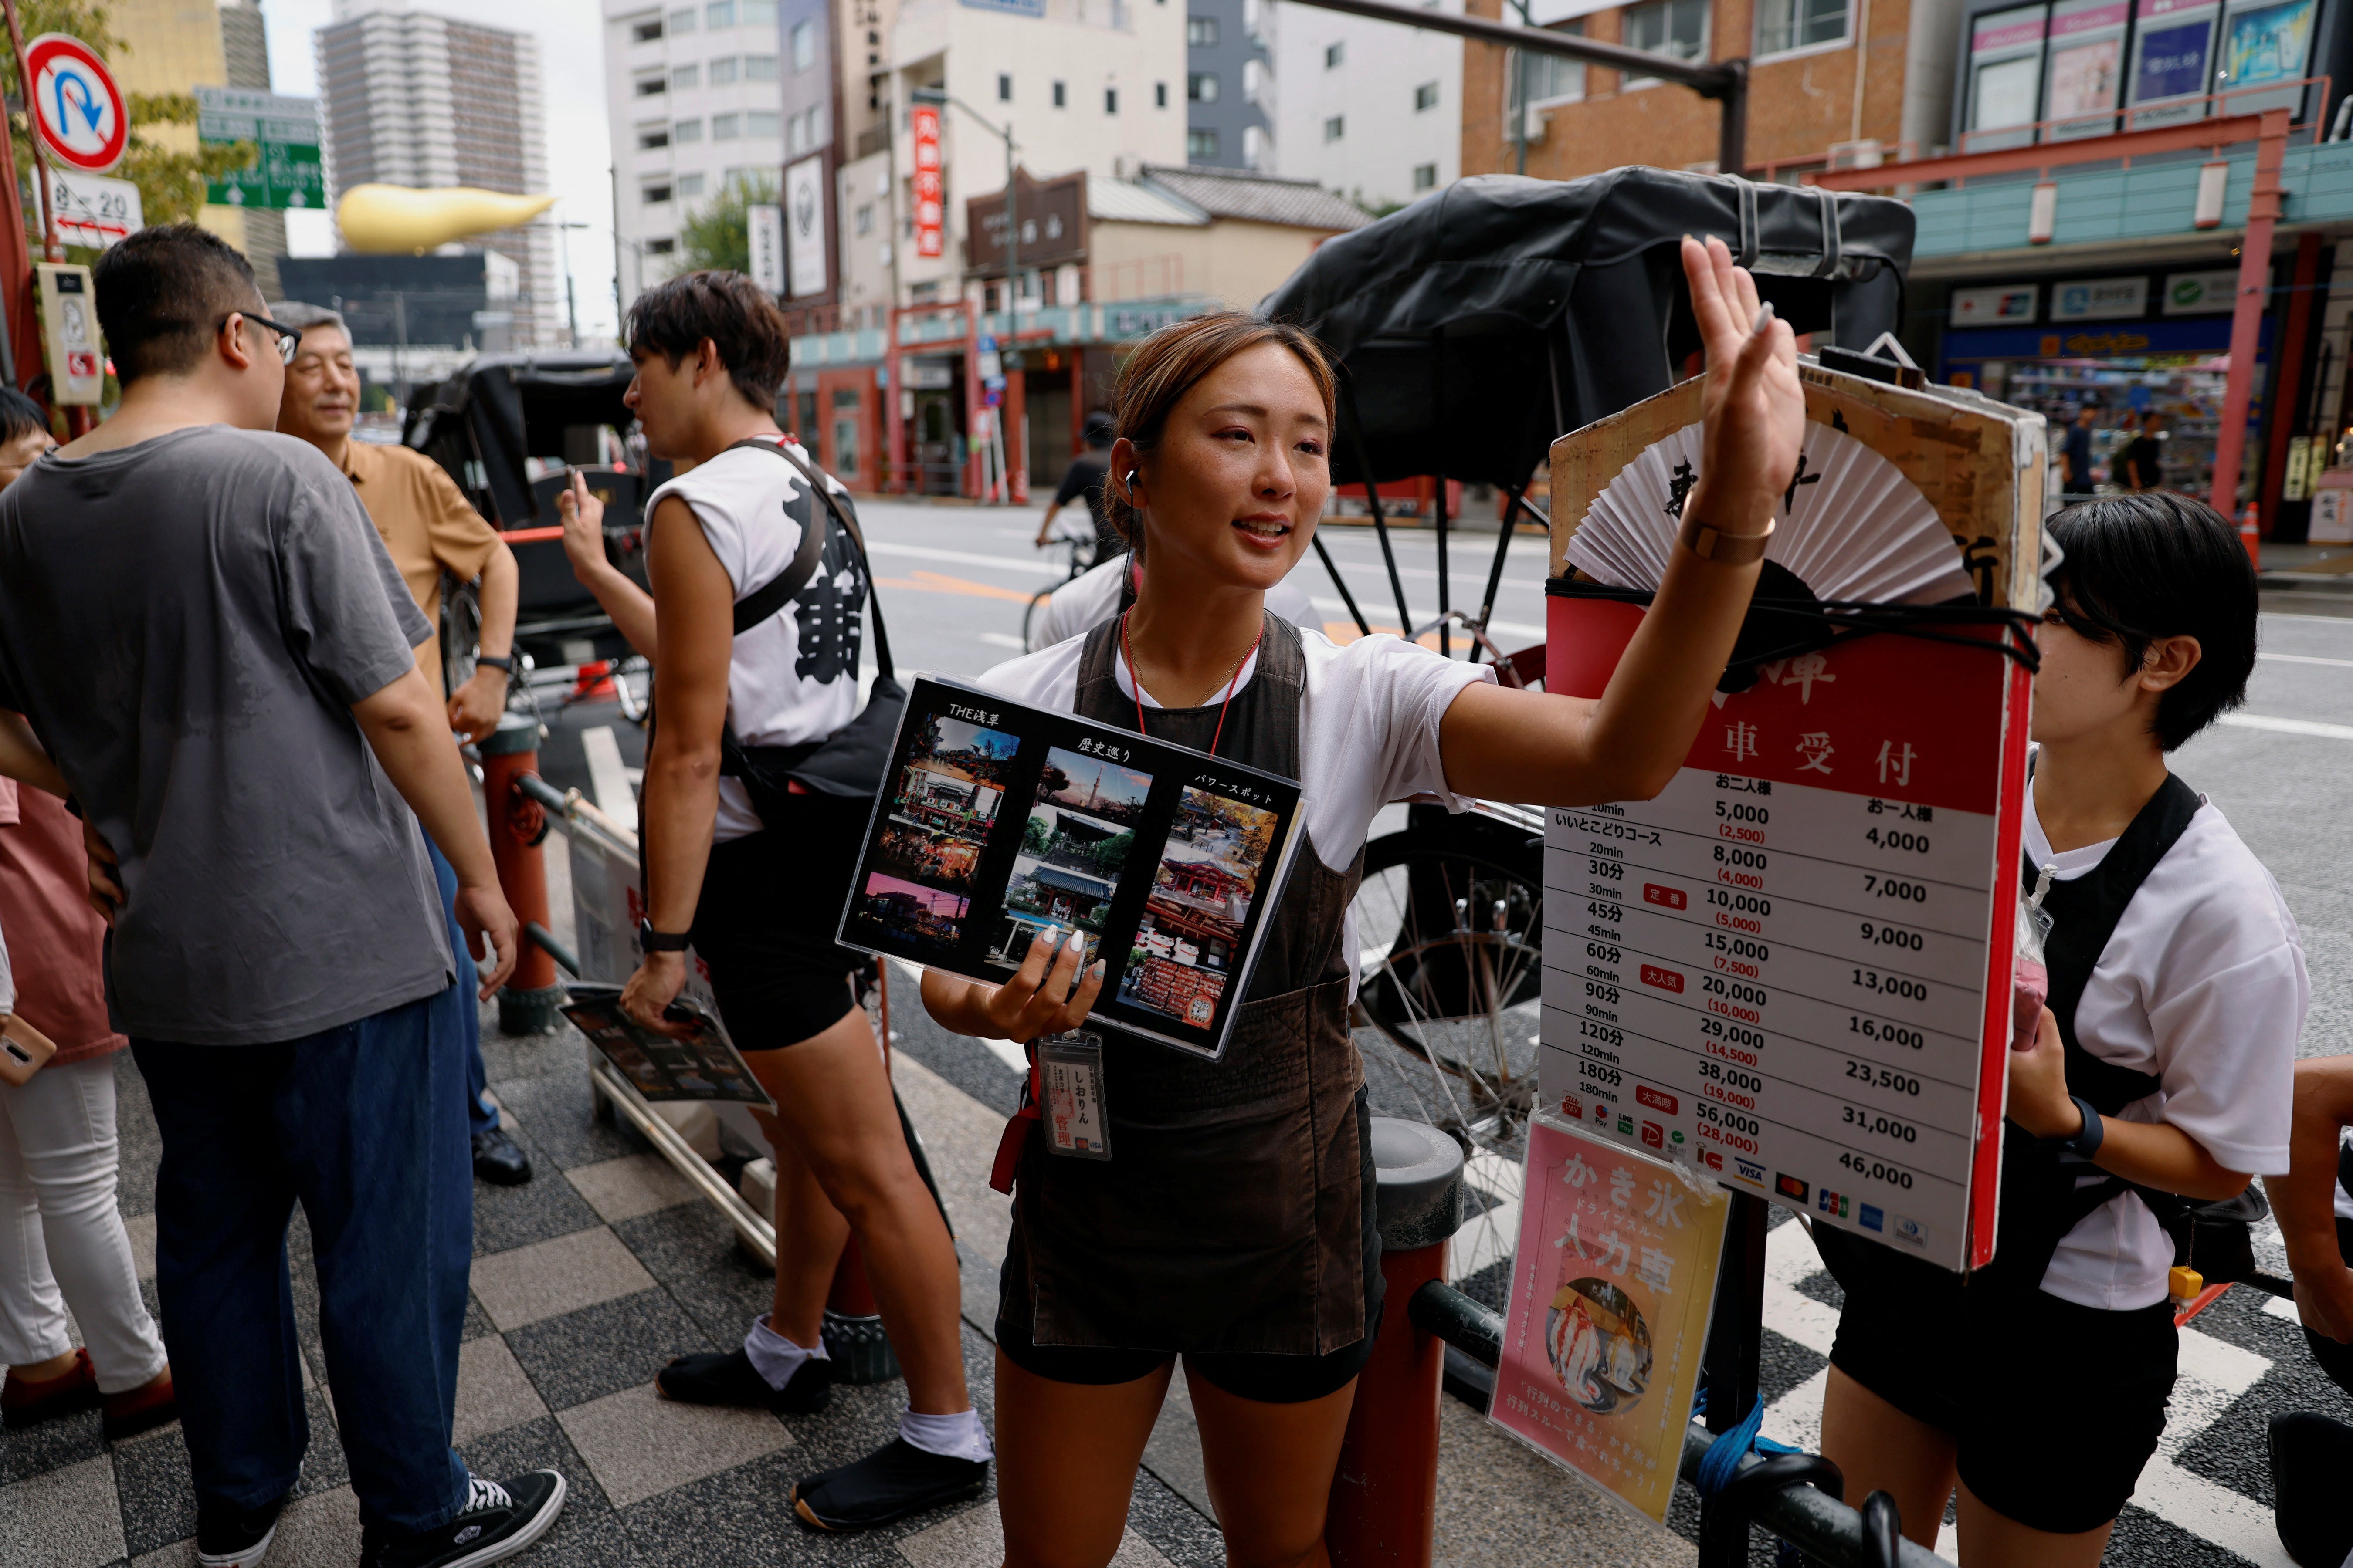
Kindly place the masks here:
[[(621, 299), (678, 268), (687, 219), (732, 181), (776, 190), (786, 153), (776, 0), (605, 0), (605, 103)], [(807, 71), (821, 61), (805, 59)], [(819, 106), (824, 113), (824, 106)], [(826, 127), (795, 125), (793, 141)]]

